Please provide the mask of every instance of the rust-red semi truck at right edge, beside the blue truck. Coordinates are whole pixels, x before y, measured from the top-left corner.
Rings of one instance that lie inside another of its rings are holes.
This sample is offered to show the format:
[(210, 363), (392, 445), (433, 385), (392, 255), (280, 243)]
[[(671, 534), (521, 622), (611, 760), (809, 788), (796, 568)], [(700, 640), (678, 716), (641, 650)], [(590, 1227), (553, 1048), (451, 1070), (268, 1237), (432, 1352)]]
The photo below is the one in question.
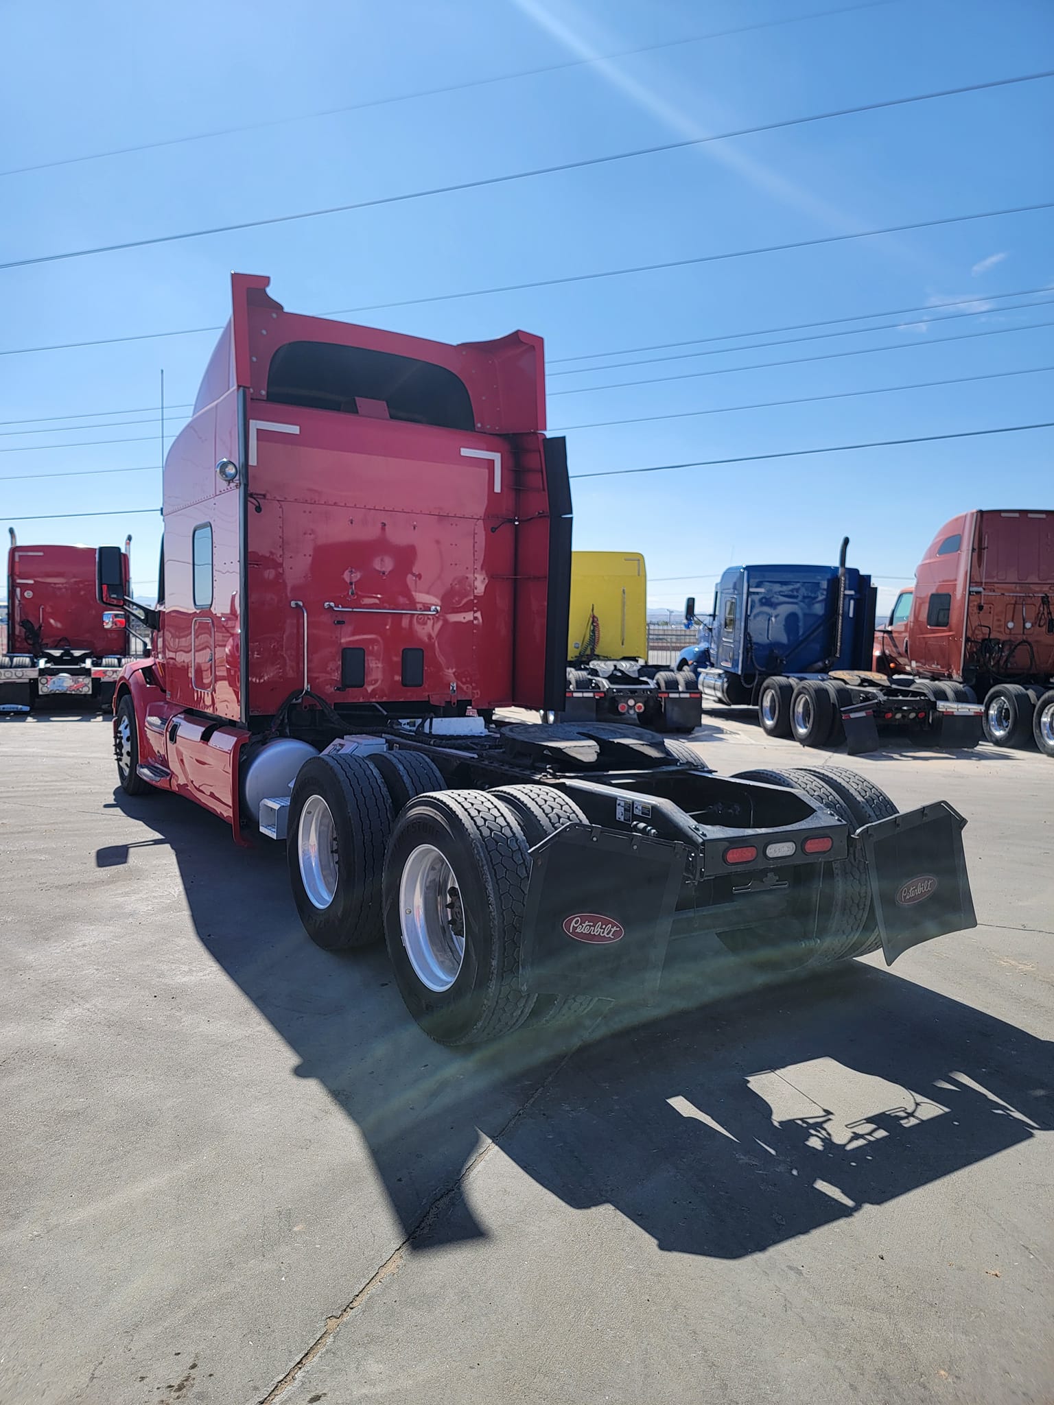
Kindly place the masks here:
[(1054, 510), (944, 523), (876, 635), (876, 667), (977, 697), (989, 742), (1054, 756)]

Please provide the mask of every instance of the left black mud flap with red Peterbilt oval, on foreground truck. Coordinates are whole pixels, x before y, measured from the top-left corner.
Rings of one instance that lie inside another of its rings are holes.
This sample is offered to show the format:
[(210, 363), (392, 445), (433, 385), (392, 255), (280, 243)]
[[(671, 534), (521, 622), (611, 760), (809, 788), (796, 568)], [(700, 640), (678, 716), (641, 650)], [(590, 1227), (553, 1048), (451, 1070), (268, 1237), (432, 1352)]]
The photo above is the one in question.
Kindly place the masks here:
[(531, 850), (521, 989), (653, 999), (687, 849), (568, 825)]

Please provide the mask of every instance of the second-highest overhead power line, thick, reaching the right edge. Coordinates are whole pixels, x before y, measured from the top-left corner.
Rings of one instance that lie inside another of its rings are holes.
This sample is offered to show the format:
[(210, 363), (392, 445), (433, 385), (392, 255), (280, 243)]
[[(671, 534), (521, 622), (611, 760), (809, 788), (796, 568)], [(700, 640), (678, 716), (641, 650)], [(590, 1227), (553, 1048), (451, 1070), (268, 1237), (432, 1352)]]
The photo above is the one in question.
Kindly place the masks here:
[(967, 93), (982, 93), (992, 89), (1013, 87), (1020, 83), (1039, 83), (1054, 77), (1054, 69), (1040, 73), (1022, 73), (1009, 79), (992, 79), (987, 83), (967, 83), (961, 87), (939, 89), (930, 93), (913, 93), (909, 97), (887, 98), (881, 103), (863, 103), (857, 107), (832, 108), (828, 112), (809, 112), (805, 117), (784, 118), (779, 122), (759, 122), (755, 126), (741, 126), (729, 132), (715, 132), (713, 136), (690, 136), (679, 142), (659, 142), (655, 146), (638, 146), (632, 150), (611, 152), (607, 156), (586, 156), (576, 162), (559, 162), (552, 166), (535, 166), (526, 171), (507, 171), (503, 176), (482, 176), (478, 180), (453, 181), (448, 185), (431, 185), (426, 190), (403, 191), (398, 195), (375, 195), (372, 200), (357, 200), (347, 205), (329, 205), (323, 209), (304, 209), (292, 215), (270, 215), (264, 219), (242, 219), (230, 225), (212, 225), (205, 229), (188, 229), (176, 235), (152, 235), (148, 239), (125, 239), (112, 244), (94, 244), (89, 249), (67, 249), (56, 254), (34, 254), (30, 259), (11, 259), (0, 263), (3, 268), (25, 268), (30, 264), (59, 263), (66, 259), (86, 259), (93, 254), (119, 253), (125, 249), (146, 249), (155, 244), (170, 244), (184, 239), (204, 239), (211, 235), (229, 235), (240, 229), (263, 229), (268, 225), (288, 225), (299, 219), (319, 219), (325, 215), (341, 215), (354, 209), (377, 209), (382, 205), (401, 205), (413, 200), (430, 200), (434, 195), (455, 195), (468, 190), (483, 190), (492, 185), (509, 185), (520, 180), (534, 180), (540, 176), (557, 176), (562, 171), (586, 170), (593, 166), (611, 166), (616, 162), (638, 160), (644, 156), (659, 156), (666, 152), (687, 150), (694, 146), (707, 146), (713, 142), (727, 142), (738, 136), (756, 136), (762, 132), (776, 132), (791, 126), (807, 126), (812, 122), (828, 122), (840, 117), (853, 117), (860, 112), (878, 112), (894, 107), (908, 107), (913, 103), (932, 103), (947, 97), (960, 97)]

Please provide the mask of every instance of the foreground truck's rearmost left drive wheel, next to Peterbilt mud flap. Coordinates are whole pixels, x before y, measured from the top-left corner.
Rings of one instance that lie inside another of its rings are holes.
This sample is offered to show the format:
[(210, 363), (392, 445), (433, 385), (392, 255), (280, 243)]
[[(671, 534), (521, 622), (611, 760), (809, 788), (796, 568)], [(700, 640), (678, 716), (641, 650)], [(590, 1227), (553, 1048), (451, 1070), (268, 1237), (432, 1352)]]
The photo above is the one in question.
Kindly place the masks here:
[(519, 1028), (531, 861), (519, 821), (486, 791), (419, 795), (395, 822), (384, 927), (406, 1007), (437, 1044), (485, 1044)]

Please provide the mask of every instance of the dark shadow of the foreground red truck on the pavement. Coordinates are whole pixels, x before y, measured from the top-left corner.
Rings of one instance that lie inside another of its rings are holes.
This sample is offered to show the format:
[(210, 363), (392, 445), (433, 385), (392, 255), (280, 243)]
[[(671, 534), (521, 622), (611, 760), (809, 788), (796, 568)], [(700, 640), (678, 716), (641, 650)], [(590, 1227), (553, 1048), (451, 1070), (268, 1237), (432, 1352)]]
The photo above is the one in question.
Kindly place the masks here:
[(753, 989), (704, 1003), (714, 972), (682, 960), (659, 1009), (613, 1009), (564, 1044), (527, 1027), (441, 1048), (382, 948), (312, 946), (282, 849), (235, 849), (176, 797), (115, 802), (149, 832), (97, 864), (171, 846), (198, 939), (295, 1051), (292, 1073), (360, 1128), (413, 1249), (486, 1234), (464, 1175), (486, 1139), (572, 1208), (611, 1204), (659, 1249), (735, 1259), (1051, 1127), (1050, 1044), (861, 962), (767, 988), (718, 972)]

